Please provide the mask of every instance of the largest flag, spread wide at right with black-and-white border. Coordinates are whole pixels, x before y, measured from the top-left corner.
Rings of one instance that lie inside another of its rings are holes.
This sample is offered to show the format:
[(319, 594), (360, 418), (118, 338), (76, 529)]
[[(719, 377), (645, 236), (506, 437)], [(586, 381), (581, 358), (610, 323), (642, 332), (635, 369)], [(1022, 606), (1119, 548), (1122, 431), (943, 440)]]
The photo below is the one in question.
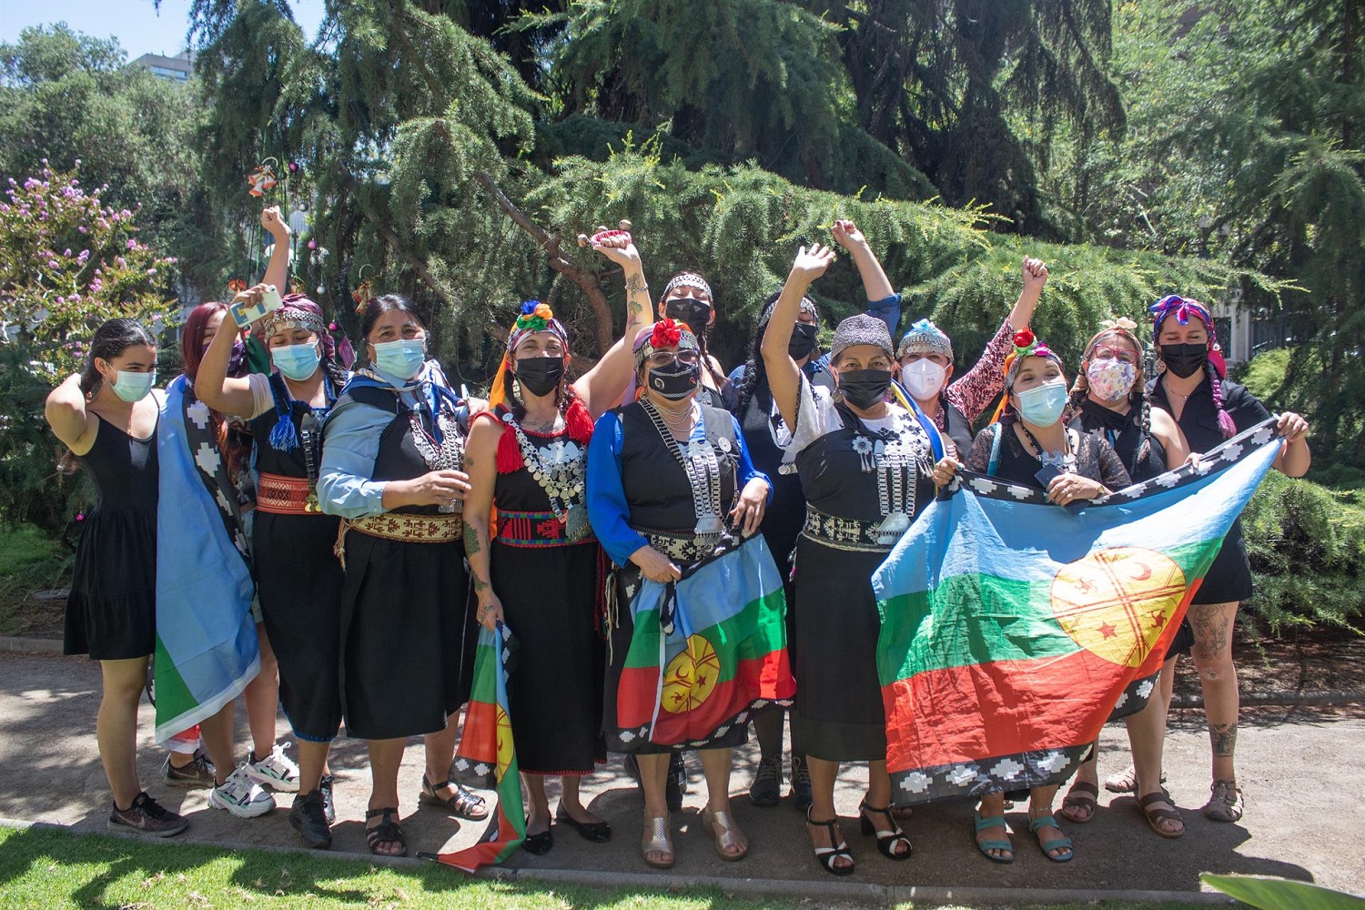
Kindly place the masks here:
[(1066, 780), (1115, 703), (1151, 692), (1278, 452), (1267, 422), (1078, 514), (964, 472), (872, 578), (893, 799)]

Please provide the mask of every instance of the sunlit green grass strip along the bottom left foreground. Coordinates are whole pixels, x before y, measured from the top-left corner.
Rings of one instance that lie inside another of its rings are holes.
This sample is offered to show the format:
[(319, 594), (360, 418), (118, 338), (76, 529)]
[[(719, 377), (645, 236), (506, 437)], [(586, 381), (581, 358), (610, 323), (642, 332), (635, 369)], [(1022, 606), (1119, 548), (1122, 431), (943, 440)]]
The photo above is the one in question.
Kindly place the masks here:
[[(627, 847), (622, 847), (627, 849)], [(64, 831), (0, 830), (0, 907), (66, 910), (786, 910), (820, 900), (736, 899), (714, 888), (603, 890), (489, 881), (455, 869), (373, 866), (363, 860), (263, 850), (224, 851)], [(846, 905), (848, 907), (865, 905)], [(1050, 910), (1179, 910), (1194, 905), (1088, 903)], [(909, 907), (909, 905), (902, 905)], [(958, 907), (957, 910), (972, 910)]]

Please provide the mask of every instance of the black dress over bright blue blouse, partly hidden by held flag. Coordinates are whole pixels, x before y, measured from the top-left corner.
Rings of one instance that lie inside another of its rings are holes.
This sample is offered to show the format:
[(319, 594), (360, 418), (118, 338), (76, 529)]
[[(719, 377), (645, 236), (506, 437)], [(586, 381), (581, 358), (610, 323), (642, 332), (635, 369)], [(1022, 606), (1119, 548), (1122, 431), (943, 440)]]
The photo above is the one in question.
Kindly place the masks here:
[[(702, 396), (698, 396), (702, 400)], [(657, 550), (670, 557), (677, 565), (685, 566), (695, 561), (678, 553), (669, 553), (659, 538), (672, 538), (685, 548), (685, 540), (692, 538), (696, 513), (692, 502), (692, 484), (682, 467), (669, 452), (655, 430), (644, 407), (628, 404), (616, 412), (621, 419), (621, 487), (631, 506), (629, 524), (654, 543)], [(700, 427), (715, 452), (721, 468), (721, 509), (729, 510), (734, 498), (738, 475), (738, 442), (734, 438), (734, 419), (729, 411), (702, 404)], [(693, 438), (696, 438), (693, 435)], [(722, 442), (723, 441), (723, 442)], [(621, 682), (625, 655), (631, 649), (635, 623), (631, 615), (631, 600), (640, 588), (640, 569), (633, 562), (616, 572), (616, 596), (620, 604), (616, 611), (616, 625), (610, 630), (609, 649), (614, 662), (607, 663), (603, 688), (603, 716), (616, 718), (617, 690)], [(513, 628), (513, 633), (516, 629)], [(748, 739), (748, 724), (734, 723), (722, 737), (711, 741), (708, 749), (729, 749), (741, 746)], [(616, 749), (616, 745), (612, 745)], [(667, 746), (655, 742), (640, 742), (635, 752), (657, 754), (681, 752), (682, 744)]]

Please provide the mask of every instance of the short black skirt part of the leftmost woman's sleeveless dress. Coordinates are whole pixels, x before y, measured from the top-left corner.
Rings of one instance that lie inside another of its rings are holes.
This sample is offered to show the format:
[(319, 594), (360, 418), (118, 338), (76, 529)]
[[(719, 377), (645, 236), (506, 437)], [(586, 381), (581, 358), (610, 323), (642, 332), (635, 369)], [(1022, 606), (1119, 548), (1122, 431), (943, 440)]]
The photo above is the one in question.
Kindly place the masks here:
[(94, 660), (146, 658), (156, 648), (157, 509), (86, 516), (76, 543), (61, 652)]

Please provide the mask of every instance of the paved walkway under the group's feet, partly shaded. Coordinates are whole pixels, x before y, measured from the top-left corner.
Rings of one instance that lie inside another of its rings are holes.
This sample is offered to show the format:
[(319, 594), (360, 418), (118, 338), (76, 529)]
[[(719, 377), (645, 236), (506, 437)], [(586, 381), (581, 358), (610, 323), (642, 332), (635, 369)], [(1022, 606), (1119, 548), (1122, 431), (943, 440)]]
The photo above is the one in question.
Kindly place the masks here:
[[(94, 742), (100, 701), (98, 667), (79, 658), (0, 654), (0, 816), (51, 821), (76, 830), (104, 830), (108, 790)], [(243, 709), (238, 705), (239, 744), (247, 742)], [(207, 791), (184, 791), (160, 782), (164, 753), (152, 741), (152, 711), (143, 703), (139, 768), (147, 790), (167, 806), (188, 814), (191, 830), (180, 838), (198, 842), (236, 842), (295, 846), (288, 824), (291, 797), (280, 809), (254, 820), (239, 820), (207, 808)], [(280, 720), (281, 738), (288, 727)], [(1104, 730), (1100, 776), (1126, 764), (1121, 726)], [(1017, 861), (990, 864), (971, 843), (971, 805), (950, 802), (916, 809), (908, 832), (915, 842), (909, 862), (882, 858), (871, 839), (859, 836), (857, 804), (865, 772), (849, 768), (841, 778), (838, 808), (844, 835), (859, 864), (856, 876), (842, 881), (879, 885), (968, 888), (1061, 888), (1069, 891), (1183, 891), (1200, 890), (1200, 872), (1275, 875), (1365, 894), (1365, 808), (1361, 794), (1361, 753), (1365, 750), (1365, 709), (1259, 708), (1244, 716), (1238, 741), (1248, 814), (1238, 824), (1215, 824), (1198, 814), (1208, 794), (1208, 738), (1203, 712), (1177, 711), (1167, 738), (1170, 790), (1182, 808), (1186, 835), (1164, 840), (1141, 821), (1132, 798), (1103, 793), (1102, 808), (1085, 825), (1063, 823), (1076, 840), (1076, 860), (1048, 862), (1028, 834), (1022, 806), (1007, 813)], [(811, 858), (804, 825), (788, 801), (756, 809), (743, 795), (752, 760), (751, 746), (736, 759), (732, 793), (734, 813), (751, 840), (744, 862), (721, 862), (702, 831), (700, 767), (689, 760), (692, 790), (684, 810), (674, 814), (678, 861), (674, 873), (721, 879), (767, 879), (833, 884)], [(400, 793), (414, 851), (465, 846), (483, 823), (455, 819), (430, 808), (416, 808), (422, 775), (420, 741), (414, 739), (403, 764)], [(367, 765), (362, 744), (340, 739), (333, 760), (337, 772), (334, 851), (364, 853), (362, 831), (367, 798)], [(597, 869), (650, 873), (639, 858), (640, 801), (620, 759), (584, 784), (594, 812), (612, 821), (616, 838), (592, 845), (568, 827), (556, 827), (554, 850), (543, 857), (519, 853), (508, 865), (534, 870)], [(551, 797), (553, 806), (553, 797)], [(1061, 806), (1061, 799), (1058, 799)], [(450, 875), (460, 875), (452, 870)]]

